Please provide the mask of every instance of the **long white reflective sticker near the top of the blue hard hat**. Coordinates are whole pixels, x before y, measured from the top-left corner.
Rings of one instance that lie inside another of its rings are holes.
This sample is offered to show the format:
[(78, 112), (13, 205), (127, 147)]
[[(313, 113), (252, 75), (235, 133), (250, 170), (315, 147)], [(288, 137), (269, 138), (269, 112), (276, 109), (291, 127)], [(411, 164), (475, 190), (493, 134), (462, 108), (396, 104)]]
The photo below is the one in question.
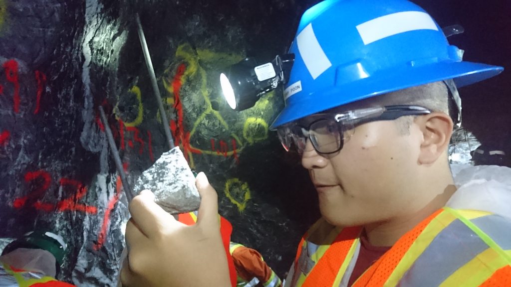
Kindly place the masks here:
[(429, 14), (419, 11), (393, 13), (369, 20), (357, 26), (364, 44), (415, 30), (436, 30), (435, 21)]

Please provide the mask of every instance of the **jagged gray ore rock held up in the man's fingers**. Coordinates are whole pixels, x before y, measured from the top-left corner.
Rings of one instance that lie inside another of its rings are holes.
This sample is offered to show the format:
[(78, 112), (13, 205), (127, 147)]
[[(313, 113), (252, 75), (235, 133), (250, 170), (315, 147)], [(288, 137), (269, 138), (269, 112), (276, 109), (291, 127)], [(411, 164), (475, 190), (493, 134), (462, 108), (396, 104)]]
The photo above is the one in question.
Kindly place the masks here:
[(176, 214), (199, 209), (200, 197), (195, 177), (179, 147), (165, 152), (136, 180), (134, 192), (149, 189), (155, 202)]

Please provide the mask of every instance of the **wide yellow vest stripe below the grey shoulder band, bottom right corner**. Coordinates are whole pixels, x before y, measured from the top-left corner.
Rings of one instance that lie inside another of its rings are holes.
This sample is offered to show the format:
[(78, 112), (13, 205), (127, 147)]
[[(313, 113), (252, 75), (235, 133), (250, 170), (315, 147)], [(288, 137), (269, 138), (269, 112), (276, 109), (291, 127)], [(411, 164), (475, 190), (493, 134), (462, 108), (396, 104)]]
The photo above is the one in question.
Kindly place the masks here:
[(479, 286), (507, 264), (499, 252), (488, 248), (447, 277), (440, 286)]

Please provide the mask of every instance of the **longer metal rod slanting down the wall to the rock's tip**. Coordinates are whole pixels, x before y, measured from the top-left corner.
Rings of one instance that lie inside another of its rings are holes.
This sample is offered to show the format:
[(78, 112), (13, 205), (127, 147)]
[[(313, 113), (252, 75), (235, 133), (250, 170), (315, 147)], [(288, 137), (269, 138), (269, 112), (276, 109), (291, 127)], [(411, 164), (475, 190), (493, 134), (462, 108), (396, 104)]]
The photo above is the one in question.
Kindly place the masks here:
[(136, 25), (138, 27), (138, 39), (140, 39), (140, 44), (142, 45), (142, 50), (144, 51), (144, 58), (146, 59), (147, 70), (149, 71), (149, 77), (151, 78), (151, 84), (153, 86), (154, 97), (156, 97), (156, 102), (158, 103), (158, 109), (160, 111), (161, 121), (163, 122), (163, 128), (165, 130), (165, 135), (167, 136), (167, 141), (169, 142), (170, 149), (174, 148), (174, 140), (172, 139), (172, 134), (170, 133), (169, 121), (167, 119), (167, 114), (161, 103), (161, 94), (158, 88), (158, 82), (156, 82), (156, 75), (154, 74), (153, 63), (151, 62), (151, 55), (149, 54), (149, 49), (147, 47), (146, 36), (144, 36), (144, 30), (142, 29), (142, 24), (140, 22), (140, 17), (138, 13), (136, 13)]

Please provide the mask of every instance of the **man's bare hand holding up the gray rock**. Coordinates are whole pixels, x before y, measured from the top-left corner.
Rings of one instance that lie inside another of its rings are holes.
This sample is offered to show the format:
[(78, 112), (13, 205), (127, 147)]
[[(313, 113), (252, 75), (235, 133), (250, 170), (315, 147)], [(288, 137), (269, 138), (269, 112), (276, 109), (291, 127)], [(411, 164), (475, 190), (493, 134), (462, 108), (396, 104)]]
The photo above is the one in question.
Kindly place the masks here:
[(124, 286), (230, 286), (217, 193), (204, 173), (195, 184), (201, 202), (191, 226), (154, 203), (149, 190), (133, 198), (126, 226), (128, 258), (121, 270)]

